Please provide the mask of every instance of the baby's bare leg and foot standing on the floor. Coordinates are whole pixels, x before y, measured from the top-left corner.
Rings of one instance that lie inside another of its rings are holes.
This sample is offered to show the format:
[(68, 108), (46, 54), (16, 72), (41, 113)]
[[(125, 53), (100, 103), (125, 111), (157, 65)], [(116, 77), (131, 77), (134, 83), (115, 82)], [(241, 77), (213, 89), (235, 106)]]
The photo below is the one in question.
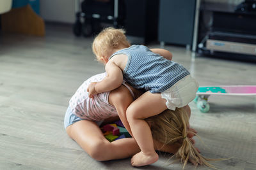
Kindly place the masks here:
[(145, 92), (127, 108), (127, 120), (132, 135), (141, 149), (140, 153), (132, 157), (132, 166), (145, 166), (158, 160), (150, 127), (144, 119), (166, 110), (165, 103), (166, 100), (161, 97), (161, 94)]

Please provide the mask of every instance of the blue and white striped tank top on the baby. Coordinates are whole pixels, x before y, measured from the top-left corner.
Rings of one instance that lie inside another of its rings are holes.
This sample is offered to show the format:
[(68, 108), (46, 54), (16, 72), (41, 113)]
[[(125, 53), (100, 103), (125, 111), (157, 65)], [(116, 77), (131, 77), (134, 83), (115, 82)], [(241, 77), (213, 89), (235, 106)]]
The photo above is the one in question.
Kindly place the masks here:
[(164, 92), (190, 74), (180, 64), (153, 53), (147, 46), (132, 45), (118, 50), (111, 57), (117, 54), (128, 56), (123, 76), (136, 89), (145, 89), (152, 93)]

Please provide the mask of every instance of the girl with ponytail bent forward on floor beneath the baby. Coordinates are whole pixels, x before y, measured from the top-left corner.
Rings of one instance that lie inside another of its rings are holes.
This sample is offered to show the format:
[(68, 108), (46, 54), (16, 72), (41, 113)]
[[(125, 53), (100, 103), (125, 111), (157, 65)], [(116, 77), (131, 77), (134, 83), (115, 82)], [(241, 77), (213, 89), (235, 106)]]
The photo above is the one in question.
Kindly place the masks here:
[[(142, 93), (124, 82), (118, 89), (89, 98), (85, 89), (90, 82), (101, 81), (105, 76), (106, 73), (92, 76), (76, 90), (70, 99), (64, 125), (68, 136), (93, 159), (124, 159), (140, 152), (134, 138), (118, 139), (109, 143), (103, 136), (99, 124), (103, 121), (103, 124), (113, 122), (116, 116), (127, 122), (127, 107)], [(207, 161), (214, 159), (203, 157), (194, 146), (195, 141), (192, 137), (196, 131), (189, 128), (189, 116), (189, 107), (184, 107), (175, 111), (165, 110), (154, 117), (146, 118), (145, 121), (152, 131), (154, 149), (174, 153), (181, 162), (184, 162), (184, 167), (188, 161), (195, 166), (204, 164), (212, 167)], [(129, 129), (129, 124), (126, 127)]]

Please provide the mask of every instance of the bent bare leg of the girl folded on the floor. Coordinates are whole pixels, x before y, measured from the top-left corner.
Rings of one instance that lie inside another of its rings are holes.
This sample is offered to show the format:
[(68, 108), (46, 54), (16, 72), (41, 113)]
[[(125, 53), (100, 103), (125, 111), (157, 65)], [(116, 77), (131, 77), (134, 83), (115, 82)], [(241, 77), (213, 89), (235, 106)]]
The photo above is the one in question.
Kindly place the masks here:
[(110, 143), (95, 122), (80, 120), (66, 129), (68, 136), (74, 139), (93, 159), (124, 159), (140, 152), (133, 138), (124, 138)]

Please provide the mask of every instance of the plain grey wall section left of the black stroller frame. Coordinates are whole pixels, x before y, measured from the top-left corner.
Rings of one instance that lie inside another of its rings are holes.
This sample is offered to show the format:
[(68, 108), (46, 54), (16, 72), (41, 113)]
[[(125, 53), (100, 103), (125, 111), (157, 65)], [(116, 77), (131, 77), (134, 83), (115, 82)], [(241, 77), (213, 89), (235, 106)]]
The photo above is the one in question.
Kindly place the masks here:
[(45, 21), (75, 22), (75, 0), (41, 0), (40, 15)]

